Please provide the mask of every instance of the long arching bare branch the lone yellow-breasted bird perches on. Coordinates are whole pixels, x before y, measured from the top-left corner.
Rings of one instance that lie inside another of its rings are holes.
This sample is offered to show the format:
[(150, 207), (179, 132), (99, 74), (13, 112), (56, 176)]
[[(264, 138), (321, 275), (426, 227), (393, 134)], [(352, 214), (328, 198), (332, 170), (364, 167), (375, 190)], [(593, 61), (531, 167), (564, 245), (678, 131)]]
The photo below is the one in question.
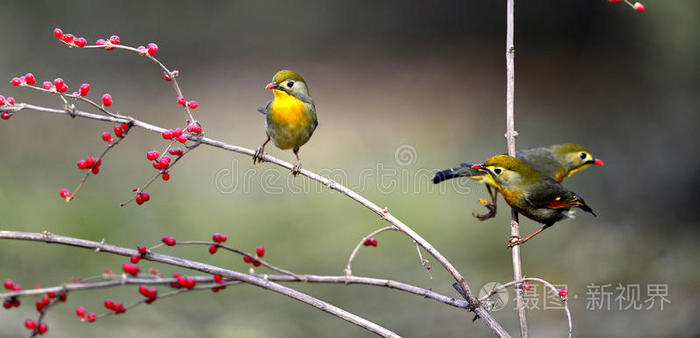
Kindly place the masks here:
[[(156, 133), (162, 133), (166, 129), (140, 121), (140, 120), (126, 120), (126, 119), (121, 119), (121, 118), (114, 118), (111, 116), (104, 116), (104, 115), (97, 115), (97, 114), (92, 114), (80, 110), (72, 110), (72, 111), (67, 111), (65, 109), (53, 109), (53, 108), (47, 108), (47, 107), (40, 107), (32, 104), (27, 104), (27, 103), (18, 103), (15, 106), (10, 106), (10, 107), (3, 107), (3, 110), (11, 110), (11, 111), (20, 111), (23, 109), (31, 109), (31, 110), (36, 110), (36, 111), (42, 111), (42, 112), (47, 112), (47, 113), (54, 113), (54, 114), (62, 114), (62, 115), (68, 115), (71, 117), (77, 116), (77, 117), (83, 117), (83, 118), (88, 118), (88, 119), (93, 119), (93, 120), (98, 120), (98, 121), (105, 121), (105, 122), (114, 122), (114, 123), (129, 123), (131, 122), (133, 126), (143, 128), (152, 132)], [(253, 156), (255, 152), (251, 149), (245, 148), (245, 147), (240, 147), (237, 145), (231, 145), (224, 143), (222, 141), (210, 139), (207, 137), (203, 137), (200, 139), (201, 144), (206, 144), (212, 147), (236, 152), (239, 154), (245, 154), (248, 156)], [(289, 162), (282, 161), (276, 157), (270, 156), (268, 154), (263, 155), (263, 160), (265, 162), (270, 162), (273, 164), (276, 164), (280, 167), (287, 168), (290, 171), (292, 170), (292, 164)], [(405, 233), (408, 237), (410, 237), (413, 241), (415, 241), (418, 245), (423, 247), (426, 252), (430, 253), (440, 264), (452, 275), (452, 277), (457, 281), (459, 286), (462, 288), (464, 291), (464, 296), (470, 304), (472, 304), (472, 309), (476, 314), (484, 320), (484, 323), (493, 330), (498, 336), (500, 337), (509, 337), (510, 335), (508, 332), (503, 329), (503, 327), (491, 316), (491, 314), (486, 311), (483, 307), (479, 305), (478, 299), (474, 296), (474, 293), (472, 292), (471, 288), (469, 285), (467, 285), (464, 277), (457, 271), (457, 269), (450, 263), (445, 256), (443, 256), (435, 247), (433, 247), (432, 244), (430, 244), (427, 240), (425, 240), (423, 237), (421, 237), (418, 233), (413, 231), (410, 227), (408, 227), (406, 224), (401, 222), (398, 218), (393, 216), (392, 214), (389, 213), (389, 211), (385, 208), (380, 208), (376, 204), (372, 203), (370, 200), (367, 198), (363, 197), (362, 195), (358, 194), (357, 192), (331, 180), (328, 178), (325, 178), (321, 175), (318, 175), (312, 171), (309, 171), (307, 169), (301, 169), (299, 172), (301, 175), (308, 177), (309, 179), (319, 182), (325, 186), (327, 186), (331, 190), (338, 191), (342, 193), (343, 195), (351, 198), (352, 200), (360, 203), (362, 206), (365, 208), (371, 210), (375, 214), (379, 215), (382, 219), (385, 221), (391, 223), (394, 225), (399, 231)]]

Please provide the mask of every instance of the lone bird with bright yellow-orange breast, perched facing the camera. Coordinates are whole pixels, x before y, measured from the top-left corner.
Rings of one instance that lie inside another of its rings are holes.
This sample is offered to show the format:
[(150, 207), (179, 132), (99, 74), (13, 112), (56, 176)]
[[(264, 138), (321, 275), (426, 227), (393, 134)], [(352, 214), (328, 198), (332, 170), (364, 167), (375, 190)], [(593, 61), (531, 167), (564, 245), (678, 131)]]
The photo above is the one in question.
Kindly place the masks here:
[(281, 70), (272, 77), (265, 89), (271, 89), (274, 98), (265, 108), (258, 109), (266, 116), (267, 140), (253, 155), (253, 164), (263, 162), (265, 145), (272, 139), (280, 149), (292, 149), (297, 162), (292, 168), (296, 176), (301, 170), (299, 148), (309, 141), (318, 126), (316, 106), (309, 88), (301, 75), (291, 70)]

